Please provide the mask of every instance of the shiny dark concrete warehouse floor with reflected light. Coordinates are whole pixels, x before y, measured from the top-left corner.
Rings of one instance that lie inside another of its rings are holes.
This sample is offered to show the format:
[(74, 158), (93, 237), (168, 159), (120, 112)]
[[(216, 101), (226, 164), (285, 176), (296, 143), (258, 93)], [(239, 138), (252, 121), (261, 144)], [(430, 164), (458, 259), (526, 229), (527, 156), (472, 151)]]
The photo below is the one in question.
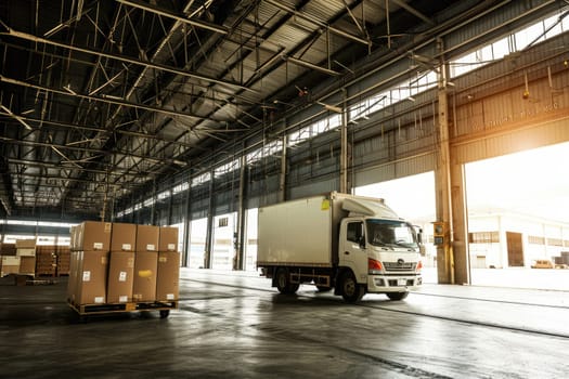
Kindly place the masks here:
[(180, 309), (81, 323), (66, 280), (0, 286), (0, 378), (567, 378), (569, 291), (425, 285), (355, 305), (181, 272)]

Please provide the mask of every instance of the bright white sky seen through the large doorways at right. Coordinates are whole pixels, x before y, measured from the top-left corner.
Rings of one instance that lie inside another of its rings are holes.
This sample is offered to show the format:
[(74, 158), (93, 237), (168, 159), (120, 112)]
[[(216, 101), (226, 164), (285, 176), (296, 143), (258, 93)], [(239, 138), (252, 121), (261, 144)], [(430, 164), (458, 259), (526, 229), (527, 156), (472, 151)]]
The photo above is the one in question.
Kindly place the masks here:
[[(513, 211), (569, 224), (569, 143), (466, 165), (470, 215)], [(432, 172), (371, 184), (357, 195), (382, 197), (400, 217), (435, 221)]]

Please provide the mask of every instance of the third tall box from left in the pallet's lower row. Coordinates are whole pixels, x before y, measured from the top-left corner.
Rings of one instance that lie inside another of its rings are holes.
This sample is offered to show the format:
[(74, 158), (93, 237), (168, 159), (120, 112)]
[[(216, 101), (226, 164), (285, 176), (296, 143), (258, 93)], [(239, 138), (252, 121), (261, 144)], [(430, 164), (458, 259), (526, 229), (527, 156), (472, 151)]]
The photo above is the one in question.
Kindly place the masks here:
[(153, 302), (156, 300), (156, 271), (158, 253), (154, 251), (137, 251), (134, 257), (134, 283), (132, 300), (135, 302)]

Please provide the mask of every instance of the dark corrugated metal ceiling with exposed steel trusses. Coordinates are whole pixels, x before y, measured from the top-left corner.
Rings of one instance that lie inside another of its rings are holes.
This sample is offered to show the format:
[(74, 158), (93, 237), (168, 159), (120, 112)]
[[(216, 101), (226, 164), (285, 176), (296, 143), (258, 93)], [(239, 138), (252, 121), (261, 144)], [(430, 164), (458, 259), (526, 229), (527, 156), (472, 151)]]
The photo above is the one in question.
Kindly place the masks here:
[(2, 212), (96, 215), (454, 2), (2, 1)]

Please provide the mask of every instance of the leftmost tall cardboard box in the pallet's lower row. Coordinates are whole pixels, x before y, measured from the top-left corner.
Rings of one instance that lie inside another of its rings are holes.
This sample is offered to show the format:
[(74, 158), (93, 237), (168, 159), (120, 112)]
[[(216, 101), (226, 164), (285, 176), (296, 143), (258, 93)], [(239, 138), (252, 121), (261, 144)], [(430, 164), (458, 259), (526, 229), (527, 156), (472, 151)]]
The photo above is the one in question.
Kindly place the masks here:
[(106, 274), (108, 269), (107, 251), (79, 251), (75, 303), (106, 303)]

